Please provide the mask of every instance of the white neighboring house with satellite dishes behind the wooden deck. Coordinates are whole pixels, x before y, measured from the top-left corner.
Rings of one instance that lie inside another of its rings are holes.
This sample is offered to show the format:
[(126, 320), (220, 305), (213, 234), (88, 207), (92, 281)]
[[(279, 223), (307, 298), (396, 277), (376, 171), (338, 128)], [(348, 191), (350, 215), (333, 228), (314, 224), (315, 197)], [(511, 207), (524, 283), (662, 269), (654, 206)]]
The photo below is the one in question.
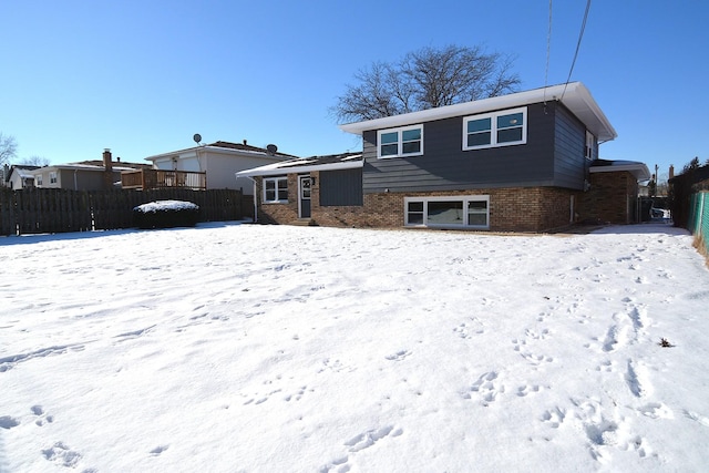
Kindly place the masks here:
[[(250, 195), (251, 181), (245, 177), (235, 181), (235, 173), (294, 157), (296, 156), (279, 153), (275, 145), (261, 148), (247, 144), (245, 140), (244, 143), (219, 141), (204, 146), (148, 156), (145, 160), (152, 162), (154, 169), (178, 172), (175, 174), (177, 178), (175, 185), (181, 184), (178, 182), (181, 176), (188, 179), (189, 173), (204, 173), (205, 187), (208, 189), (243, 188), (244, 194)], [(172, 177), (172, 174), (167, 173), (166, 176)], [(165, 186), (162, 182), (160, 184)]]

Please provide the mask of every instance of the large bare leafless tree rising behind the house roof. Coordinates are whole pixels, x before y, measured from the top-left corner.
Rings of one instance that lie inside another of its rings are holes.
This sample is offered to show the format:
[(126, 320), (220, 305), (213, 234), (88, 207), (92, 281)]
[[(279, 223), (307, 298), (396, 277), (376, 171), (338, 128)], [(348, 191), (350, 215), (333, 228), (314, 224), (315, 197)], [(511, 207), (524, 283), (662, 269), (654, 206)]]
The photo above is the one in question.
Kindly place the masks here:
[(521, 81), (512, 65), (480, 47), (423, 48), (360, 70), (331, 112), (339, 122), (372, 120), (514, 92)]

